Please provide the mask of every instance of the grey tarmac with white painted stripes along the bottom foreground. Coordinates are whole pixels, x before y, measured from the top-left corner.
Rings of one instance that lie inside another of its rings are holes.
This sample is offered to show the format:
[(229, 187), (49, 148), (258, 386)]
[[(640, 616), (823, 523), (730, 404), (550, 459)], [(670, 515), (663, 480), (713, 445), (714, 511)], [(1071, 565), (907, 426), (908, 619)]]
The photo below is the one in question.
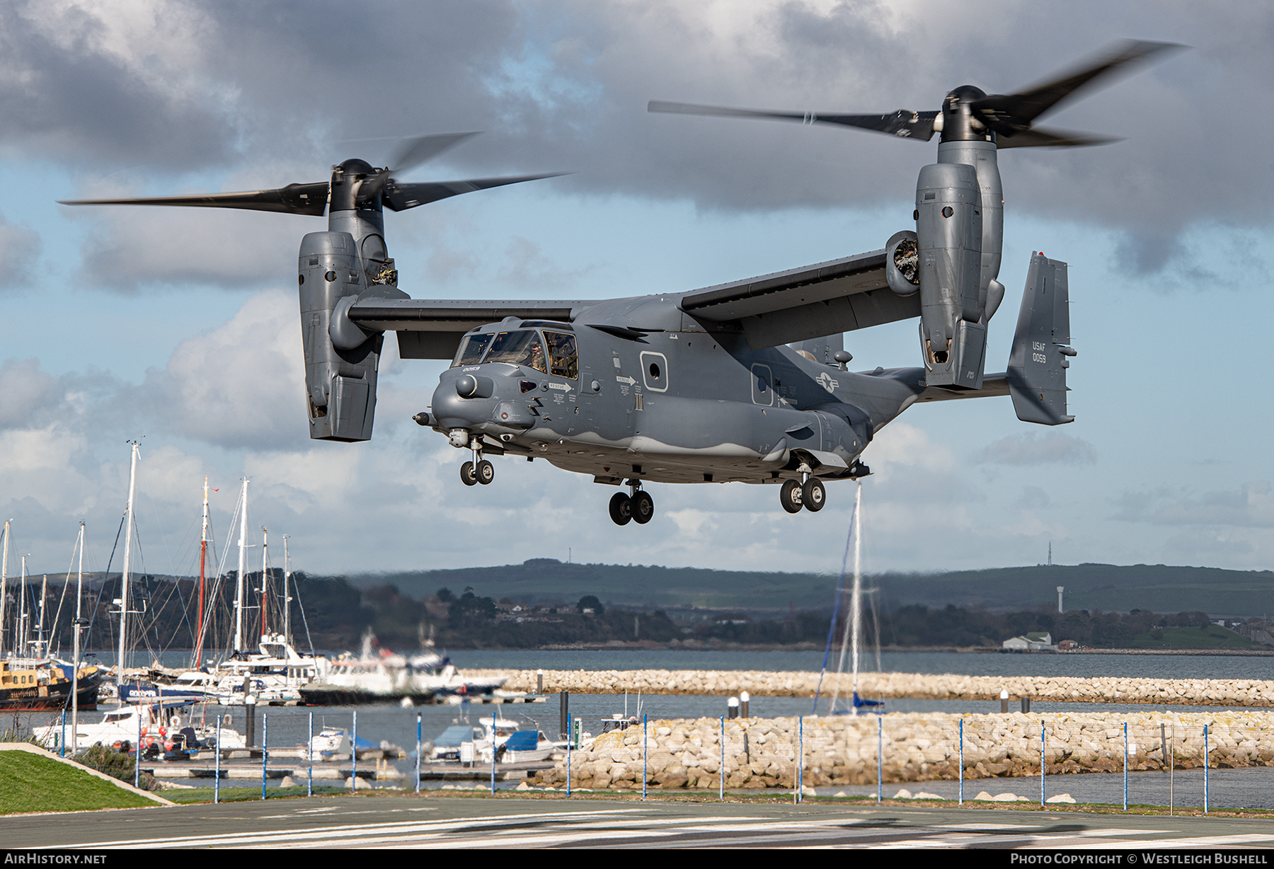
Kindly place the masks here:
[(25, 849), (1274, 847), (1266, 818), (358, 794), (0, 818)]

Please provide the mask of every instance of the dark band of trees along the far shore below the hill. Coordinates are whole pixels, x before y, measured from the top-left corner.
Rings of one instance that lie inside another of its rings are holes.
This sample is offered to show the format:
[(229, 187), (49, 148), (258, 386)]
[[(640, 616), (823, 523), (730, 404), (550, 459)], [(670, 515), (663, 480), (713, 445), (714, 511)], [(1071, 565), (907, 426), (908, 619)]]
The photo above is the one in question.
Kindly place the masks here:
[[(278, 572), (275, 572), (278, 573)], [(250, 577), (245, 633), (251, 638), (261, 631), (260, 575)], [(280, 629), (283, 612), (276, 600), (282, 575), (271, 575), (271, 598), (266, 617), (271, 629)], [(419, 647), (426, 641), (442, 649), (536, 649), (572, 643), (604, 645), (614, 642), (647, 642), (660, 645), (749, 645), (822, 646), (832, 629), (828, 610), (796, 610), (782, 615), (757, 615), (747, 612), (703, 609), (648, 609), (605, 605), (598, 594), (576, 600), (536, 605), (519, 604), (508, 598), (496, 600), (473, 589), (452, 591), (438, 589), (433, 594), (412, 596), (391, 584), (358, 589), (344, 577), (310, 577), (293, 573), (292, 632), (297, 646), (317, 650), (357, 649), (362, 636), (371, 631), (383, 646), (399, 650)], [(191, 580), (169, 577), (136, 577), (132, 585), (134, 605), (130, 608), (130, 645), (141, 651), (191, 649), (197, 631), (199, 589)], [(6, 622), (17, 612), (10, 586)], [(224, 647), (233, 627), (231, 607), (234, 591), (233, 573), (219, 589), (208, 587), (205, 595), (214, 601), (205, 649)], [(28, 613), (38, 613), (38, 592), (28, 586)], [(46, 618), (61, 617), (54, 632), (54, 647), (70, 654), (70, 617), (74, 614), (74, 585), (62, 595), (61, 584), (50, 584), (45, 601)], [(87, 647), (116, 649), (118, 613), (113, 600), (120, 595), (118, 577), (111, 577), (85, 590), (84, 613), (90, 619)], [(843, 619), (843, 612), (838, 617)], [(31, 619), (34, 626), (36, 617)], [(996, 647), (1004, 640), (1028, 632), (1049, 632), (1054, 641), (1073, 640), (1094, 649), (1158, 645), (1166, 636), (1180, 645), (1190, 642), (1189, 631), (1222, 631), (1205, 613), (1186, 612), (1157, 614), (1134, 609), (1130, 613), (1071, 610), (1065, 614), (1047, 608), (1023, 609), (1013, 613), (991, 613), (967, 607), (930, 608), (921, 604), (887, 607), (880, 613), (864, 614), (864, 643), (887, 647), (954, 646)], [(1173, 632), (1173, 629), (1176, 629)], [(838, 621), (832, 635), (842, 635)], [(1168, 632), (1167, 635), (1164, 632)], [(1226, 632), (1229, 633), (1229, 632)], [(1171, 636), (1170, 636), (1171, 635)], [(1182, 640), (1185, 637), (1185, 640)], [(1236, 638), (1237, 635), (1231, 635)], [(1215, 640), (1215, 638), (1214, 638)], [(1224, 638), (1222, 638), (1224, 640)], [(1201, 645), (1218, 645), (1209, 641)], [(1226, 645), (1226, 643), (1220, 643)], [(1235, 643), (1228, 643), (1235, 645)], [(5, 632), (5, 649), (13, 647), (13, 628)]]

